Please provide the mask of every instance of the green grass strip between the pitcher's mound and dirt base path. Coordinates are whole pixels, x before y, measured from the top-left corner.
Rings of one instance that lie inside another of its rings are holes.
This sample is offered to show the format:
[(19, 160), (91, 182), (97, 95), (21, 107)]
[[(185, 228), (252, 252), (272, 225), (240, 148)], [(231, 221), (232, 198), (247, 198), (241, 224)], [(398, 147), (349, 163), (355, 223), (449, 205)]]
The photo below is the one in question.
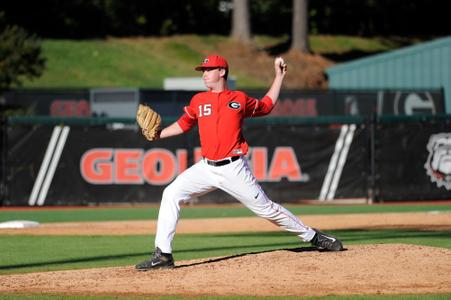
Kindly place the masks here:
[[(451, 249), (451, 233), (414, 230), (330, 231), (345, 245), (405, 243)], [(150, 255), (154, 236), (0, 235), (0, 274), (134, 265)], [(309, 247), (286, 232), (179, 234), (174, 258), (188, 260)], [(83, 249), (83, 251), (80, 251)]]

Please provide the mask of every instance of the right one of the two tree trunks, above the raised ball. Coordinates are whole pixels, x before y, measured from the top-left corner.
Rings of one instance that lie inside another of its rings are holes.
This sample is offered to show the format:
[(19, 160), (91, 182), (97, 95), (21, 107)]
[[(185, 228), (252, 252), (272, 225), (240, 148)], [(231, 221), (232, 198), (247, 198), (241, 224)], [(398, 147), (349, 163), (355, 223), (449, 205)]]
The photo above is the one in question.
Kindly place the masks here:
[(293, 0), (291, 49), (311, 53), (308, 42), (308, 0)]

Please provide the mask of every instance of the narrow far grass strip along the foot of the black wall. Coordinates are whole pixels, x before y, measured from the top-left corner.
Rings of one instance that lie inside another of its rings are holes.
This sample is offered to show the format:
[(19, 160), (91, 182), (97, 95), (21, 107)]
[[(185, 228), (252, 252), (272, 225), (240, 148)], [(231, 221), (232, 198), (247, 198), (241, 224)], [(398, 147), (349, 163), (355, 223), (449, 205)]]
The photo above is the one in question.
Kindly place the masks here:
[[(397, 212), (449, 212), (449, 205), (285, 205), (296, 215), (355, 214), (355, 213), (397, 213)], [(158, 206), (119, 208), (41, 208), (35, 210), (2, 210), (0, 222), (11, 220), (32, 220), (40, 223), (151, 220), (158, 216)], [(182, 218), (229, 218), (249, 217), (254, 214), (244, 206), (182, 208)]]

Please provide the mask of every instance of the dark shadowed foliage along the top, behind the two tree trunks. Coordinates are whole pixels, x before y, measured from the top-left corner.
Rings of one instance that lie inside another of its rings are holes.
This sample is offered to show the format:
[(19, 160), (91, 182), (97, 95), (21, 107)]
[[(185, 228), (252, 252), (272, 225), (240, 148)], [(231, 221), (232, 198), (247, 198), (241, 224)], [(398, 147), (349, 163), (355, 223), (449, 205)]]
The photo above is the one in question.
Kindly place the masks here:
[[(310, 33), (448, 35), (446, 1), (309, 1)], [(0, 1), (11, 24), (46, 38), (104, 38), (230, 32), (231, 0)], [(27, 11), (33, 12), (25, 14)], [(291, 32), (292, 1), (250, 1), (255, 34)], [(49, 17), (51, 16), (51, 17)], [(43, 21), (45, 20), (45, 22)], [(427, 21), (426, 21), (427, 20)]]

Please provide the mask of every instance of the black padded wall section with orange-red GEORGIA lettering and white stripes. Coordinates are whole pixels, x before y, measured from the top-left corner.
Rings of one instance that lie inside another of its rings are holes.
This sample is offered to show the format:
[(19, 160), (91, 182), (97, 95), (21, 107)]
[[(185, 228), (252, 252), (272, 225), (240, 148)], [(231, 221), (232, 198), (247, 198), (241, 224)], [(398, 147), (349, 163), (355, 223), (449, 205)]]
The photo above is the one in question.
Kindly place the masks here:
[[(351, 142), (365, 144), (366, 134), (353, 126), (343, 135), (342, 126), (248, 125), (247, 158), (274, 201), (364, 197), (366, 155)], [(138, 130), (42, 125), (14, 126), (9, 136), (10, 205), (158, 202), (167, 184), (202, 159), (195, 132), (150, 143)], [(202, 201), (236, 200), (214, 192)]]

